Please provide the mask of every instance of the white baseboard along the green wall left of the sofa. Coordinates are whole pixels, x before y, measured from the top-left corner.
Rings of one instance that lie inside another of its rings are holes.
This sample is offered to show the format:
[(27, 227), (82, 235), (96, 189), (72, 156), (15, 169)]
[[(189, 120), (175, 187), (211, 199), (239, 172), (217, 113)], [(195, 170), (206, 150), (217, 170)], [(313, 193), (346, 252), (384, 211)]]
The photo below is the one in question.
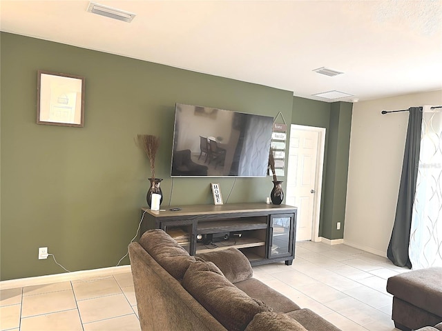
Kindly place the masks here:
[(23, 288), (25, 286), (32, 285), (59, 283), (60, 281), (75, 281), (77, 279), (83, 279), (86, 277), (106, 277), (111, 276), (112, 274), (120, 274), (122, 272), (131, 272), (131, 265), (120, 265), (119, 267), (81, 270), (74, 272), (65, 272), (64, 274), (48, 274), (47, 276), (0, 281), (0, 290), (6, 290), (8, 288)]

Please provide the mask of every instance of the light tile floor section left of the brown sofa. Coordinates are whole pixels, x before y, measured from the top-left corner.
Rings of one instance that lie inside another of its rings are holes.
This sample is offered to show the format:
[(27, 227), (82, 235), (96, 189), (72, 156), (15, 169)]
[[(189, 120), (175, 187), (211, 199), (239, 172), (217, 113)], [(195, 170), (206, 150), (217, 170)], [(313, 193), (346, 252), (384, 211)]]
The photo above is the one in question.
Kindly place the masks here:
[(141, 330), (130, 272), (0, 293), (1, 331)]

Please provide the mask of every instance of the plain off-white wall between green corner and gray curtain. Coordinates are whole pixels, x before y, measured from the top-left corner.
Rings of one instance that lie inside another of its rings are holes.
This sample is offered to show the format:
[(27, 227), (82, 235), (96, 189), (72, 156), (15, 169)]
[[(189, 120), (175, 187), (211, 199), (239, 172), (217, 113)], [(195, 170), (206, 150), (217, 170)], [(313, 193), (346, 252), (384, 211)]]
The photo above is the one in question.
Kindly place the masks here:
[(413, 106), (442, 105), (442, 90), (354, 103), (344, 243), (387, 256)]

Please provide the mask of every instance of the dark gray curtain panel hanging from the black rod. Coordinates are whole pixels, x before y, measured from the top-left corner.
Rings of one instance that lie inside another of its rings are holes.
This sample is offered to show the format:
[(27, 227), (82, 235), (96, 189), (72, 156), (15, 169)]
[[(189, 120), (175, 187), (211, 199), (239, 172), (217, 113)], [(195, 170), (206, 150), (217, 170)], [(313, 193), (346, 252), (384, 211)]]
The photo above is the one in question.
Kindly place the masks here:
[(412, 224), (412, 211), (416, 181), (419, 170), (419, 152), (421, 150), (422, 107), (409, 109), (407, 140), (399, 186), (398, 203), (392, 237), (387, 249), (387, 257), (399, 267), (412, 268), (408, 256), (410, 243), (410, 228)]

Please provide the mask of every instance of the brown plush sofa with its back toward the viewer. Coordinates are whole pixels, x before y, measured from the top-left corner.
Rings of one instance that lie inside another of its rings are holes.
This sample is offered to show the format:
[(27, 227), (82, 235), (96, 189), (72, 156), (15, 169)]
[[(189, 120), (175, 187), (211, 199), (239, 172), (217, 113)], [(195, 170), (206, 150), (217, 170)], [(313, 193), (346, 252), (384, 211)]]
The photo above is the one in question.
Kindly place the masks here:
[(155, 229), (128, 250), (143, 331), (339, 331), (254, 279), (236, 248), (193, 257)]

